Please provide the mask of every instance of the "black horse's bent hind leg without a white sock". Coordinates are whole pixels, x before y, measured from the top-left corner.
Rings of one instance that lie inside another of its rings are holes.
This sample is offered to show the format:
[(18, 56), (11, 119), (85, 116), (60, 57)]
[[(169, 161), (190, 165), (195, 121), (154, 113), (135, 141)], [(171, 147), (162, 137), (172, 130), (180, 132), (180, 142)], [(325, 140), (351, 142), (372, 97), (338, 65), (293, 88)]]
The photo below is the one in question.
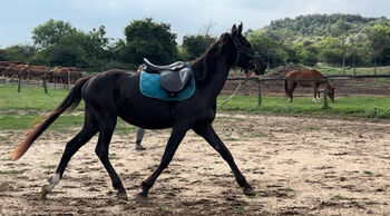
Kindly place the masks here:
[(127, 199), (126, 189), (108, 158), (108, 147), (117, 124), (117, 117), (108, 114), (100, 115), (100, 117), (101, 121), (99, 122), (99, 138), (95, 153), (111, 178), (113, 187), (117, 190), (117, 197), (120, 199)]

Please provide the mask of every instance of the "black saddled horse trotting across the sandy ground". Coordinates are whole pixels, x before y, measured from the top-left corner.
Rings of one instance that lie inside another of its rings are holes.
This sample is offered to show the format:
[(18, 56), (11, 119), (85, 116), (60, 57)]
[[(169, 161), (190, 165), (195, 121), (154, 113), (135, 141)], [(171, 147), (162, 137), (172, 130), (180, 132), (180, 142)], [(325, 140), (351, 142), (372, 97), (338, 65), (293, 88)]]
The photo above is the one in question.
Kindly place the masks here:
[(198, 59), (189, 62), (195, 77), (196, 90), (192, 98), (183, 101), (163, 101), (144, 97), (139, 91), (139, 73), (109, 70), (92, 78), (79, 80), (64, 101), (36, 126), (12, 153), (11, 159), (19, 159), (31, 144), (65, 110), (71, 110), (81, 99), (85, 100), (85, 122), (81, 131), (65, 148), (56, 174), (49, 184), (42, 187), (42, 196), (51, 192), (59, 183), (75, 153), (94, 135), (99, 132), (96, 154), (107, 169), (117, 196), (127, 199), (127, 193), (108, 159), (108, 147), (113, 137), (117, 117), (137, 127), (146, 129), (173, 128), (160, 164), (142, 183), (138, 198), (146, 198), (157, 177), (169, 165), (178, 145), (189, 129), (202, 136), (226, 160), (244, 189), (245, 195), (255, 192), (246, 181), (234, 159), (212, 126), (215, 119), (216, 97), (226, 81), (230, 69), (238, 66), (245, 71), (264, 73), (265, 63), (257, 58), (250, 42), (242, 36), (242, 23), (232, 27), (231, 33), (223, 33)]

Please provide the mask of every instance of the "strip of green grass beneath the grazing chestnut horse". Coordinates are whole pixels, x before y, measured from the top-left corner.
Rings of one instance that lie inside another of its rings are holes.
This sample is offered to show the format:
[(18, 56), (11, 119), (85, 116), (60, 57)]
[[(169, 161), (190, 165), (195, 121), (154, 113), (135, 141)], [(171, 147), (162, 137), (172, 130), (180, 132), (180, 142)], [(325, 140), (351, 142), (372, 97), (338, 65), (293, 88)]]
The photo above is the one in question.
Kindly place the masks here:
[[(227, 96), (221, 96), (217, 102), (221, 104), (226, 98)], [(284, 97), (263, 97), (262, 106), (259, 107), (256, 96), (236, 96), (224, 106), (218, 107), (218, 110), (390, 119), (390, 98), (340, 97), (335, 102), (330, 102), (328, 109), (323, 109), (322, 104), (314, 104), (309, 97), (295, 98), (292, 104), (289, 104)]]

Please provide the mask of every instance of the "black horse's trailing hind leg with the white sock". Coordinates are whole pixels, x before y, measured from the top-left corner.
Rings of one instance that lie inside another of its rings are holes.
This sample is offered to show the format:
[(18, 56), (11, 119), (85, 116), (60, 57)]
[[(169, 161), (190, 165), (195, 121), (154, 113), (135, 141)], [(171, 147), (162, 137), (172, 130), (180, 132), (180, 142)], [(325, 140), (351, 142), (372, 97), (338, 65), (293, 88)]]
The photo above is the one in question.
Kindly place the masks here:
[(87, 120), (84, 124), (84, 127), (81, 131), (76, 135), (75, 138), (72, 138), (66, 146), (61, 160), (57, 167), (56, 174), (49, 178), (49, 185), (43, 185), (41, 195), (42, 197), (46, 197), (47, 194), (51, 193), (52, 188), (59, 183), (59, 180), (62, 178), (65, 168), (67, 167), (70, 158), (75, 155), (75, 153), (84, 146), (86, 143), (89, 141), (90, 138), (94, 137), (97, 132), (97, 127), (94, 124), (90, 124), (90, 121)]

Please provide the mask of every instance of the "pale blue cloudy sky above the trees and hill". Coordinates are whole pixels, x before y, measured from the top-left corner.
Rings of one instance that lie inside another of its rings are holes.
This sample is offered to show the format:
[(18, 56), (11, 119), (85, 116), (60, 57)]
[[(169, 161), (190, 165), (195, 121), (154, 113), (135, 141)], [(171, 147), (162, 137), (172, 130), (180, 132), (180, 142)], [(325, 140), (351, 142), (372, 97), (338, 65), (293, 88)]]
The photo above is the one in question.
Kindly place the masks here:
[(389, 0), (6, 0), (1, 2), (0, 48), (32, 43), (33, 28), (49, 19), (70, 22), (85, 32), (105, 26), (107, 37), (125, 38), (131, 20), (153, 18), (183, 36), (220, 36), (233, 23), (255, 30), (272, 20), (313, 13), (352, 13), (390, 18)]

